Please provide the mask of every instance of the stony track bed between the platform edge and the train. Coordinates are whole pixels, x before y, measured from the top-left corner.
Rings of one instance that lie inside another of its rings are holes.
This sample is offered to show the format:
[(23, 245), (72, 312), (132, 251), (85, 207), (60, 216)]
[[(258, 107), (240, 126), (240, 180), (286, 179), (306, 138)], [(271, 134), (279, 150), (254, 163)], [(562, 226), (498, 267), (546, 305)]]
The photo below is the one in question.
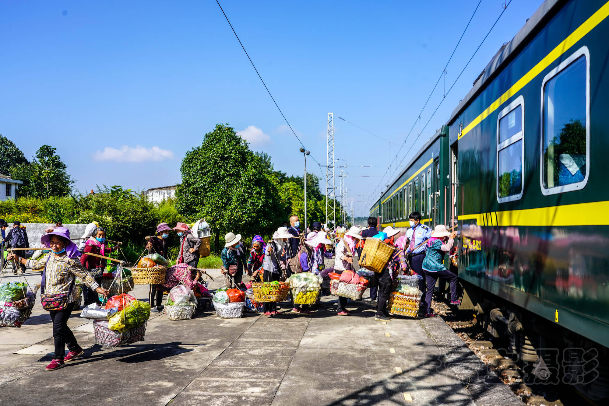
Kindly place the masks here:
[[(432, 307), (463, 342), (488, 365), (505, 385), (527, 405), (599, 406), (569, 385), (540, 385), (529, 382), (526, 366), (508, 356), (509, 340), (493, 337), (471, 311), (458, 310), (442, 301)], [(601, 401), (602, 402), (602, 401)]]

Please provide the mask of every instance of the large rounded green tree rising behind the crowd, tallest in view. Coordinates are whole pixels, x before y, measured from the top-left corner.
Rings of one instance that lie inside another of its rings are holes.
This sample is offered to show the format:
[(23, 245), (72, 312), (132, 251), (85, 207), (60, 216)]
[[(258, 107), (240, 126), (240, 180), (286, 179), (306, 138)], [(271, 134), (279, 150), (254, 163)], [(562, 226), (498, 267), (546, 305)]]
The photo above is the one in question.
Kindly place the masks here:
[(228, 231), (270, 234), (287, 214), (269, 163), (256, 156), (234, 128), (217, 124), (182, 160), (178, 212), (191, 220), (205, 218), (216, 249)]

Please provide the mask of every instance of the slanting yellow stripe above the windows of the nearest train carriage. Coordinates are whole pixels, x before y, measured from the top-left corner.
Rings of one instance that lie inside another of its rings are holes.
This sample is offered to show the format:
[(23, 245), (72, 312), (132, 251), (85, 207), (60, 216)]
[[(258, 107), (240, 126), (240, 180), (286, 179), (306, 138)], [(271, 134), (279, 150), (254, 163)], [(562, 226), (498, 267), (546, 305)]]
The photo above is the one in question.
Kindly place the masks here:
[(524, 86), (526, 86), (531, 80), (535, 79), (538, 74), (543, 72), (543, 70), (550, 66), (552, 62), (557, 60), (558, 57), (569, 51), (569, 48), (574, 46), (577, 41), (585, 37), (586, 34), (593, 30), (594, 27), (599, 25), (601, 21), (607, 18), (607, 16), (609, 16), (609, 1), (606, 2), (602, 7), (600, 7), (600, 9), (596, 11), (596, 13), (591, 15), (590, 18), (586, 19), (586, 21), (584, 21), (581, 26), (577, 27), (568, 37), (565, 38), (565, 40), (561, 41), (561, 43), (558, 44), (554, 49), (552, 49), (552, 51), (550, 51), (549, 54), (547, 54), (542, 60), (540, 60), (537, 65), (533, 66), (533, 68), (531, 68), (529, 72), (526, 72), (523, 77), (518, 79), (518, 81), (516, 81), (516, 83), (514, 83), (512, 87), (507, 89), (504, 94), (499, 96), (499, 99), (491, 103), (491, 105), (488, 106), (484, 111), (482, 111), (479, 116), (477, 116), (475, 119), (473, 119), (472, 122), (470, 122), (470, 124), (463, 128), (459, 139), (463, 138), (463, 136), (473, 130), (476, 125), (480, 124), (482, 120), (487, 118), (491, 113), (493, 113), (493, 111), (497, 110), (499, 106), (507, 102), (510, 97), (518, 93), (518, 91), (524, 88)]

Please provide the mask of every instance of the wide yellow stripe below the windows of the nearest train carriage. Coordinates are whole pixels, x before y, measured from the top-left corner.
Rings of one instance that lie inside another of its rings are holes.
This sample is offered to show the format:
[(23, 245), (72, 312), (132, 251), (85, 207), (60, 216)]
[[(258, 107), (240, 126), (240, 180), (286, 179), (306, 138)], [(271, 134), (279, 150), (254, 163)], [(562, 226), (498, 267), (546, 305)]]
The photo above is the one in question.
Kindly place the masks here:
[(460, 215), (458, 219), (476, 220), (479, 226), (609, 225), (609, 201), (466, 214)]

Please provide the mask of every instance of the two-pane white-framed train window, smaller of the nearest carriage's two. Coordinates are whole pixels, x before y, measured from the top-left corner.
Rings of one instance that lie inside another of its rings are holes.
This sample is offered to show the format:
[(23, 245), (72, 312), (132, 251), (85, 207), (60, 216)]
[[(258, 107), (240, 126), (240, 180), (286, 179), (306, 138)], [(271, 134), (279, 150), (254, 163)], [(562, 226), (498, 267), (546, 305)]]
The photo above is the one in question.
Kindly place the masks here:
[(497, 200), (503, 203), (523, 196), (523, 96), (501, 110), (497, 120)]

